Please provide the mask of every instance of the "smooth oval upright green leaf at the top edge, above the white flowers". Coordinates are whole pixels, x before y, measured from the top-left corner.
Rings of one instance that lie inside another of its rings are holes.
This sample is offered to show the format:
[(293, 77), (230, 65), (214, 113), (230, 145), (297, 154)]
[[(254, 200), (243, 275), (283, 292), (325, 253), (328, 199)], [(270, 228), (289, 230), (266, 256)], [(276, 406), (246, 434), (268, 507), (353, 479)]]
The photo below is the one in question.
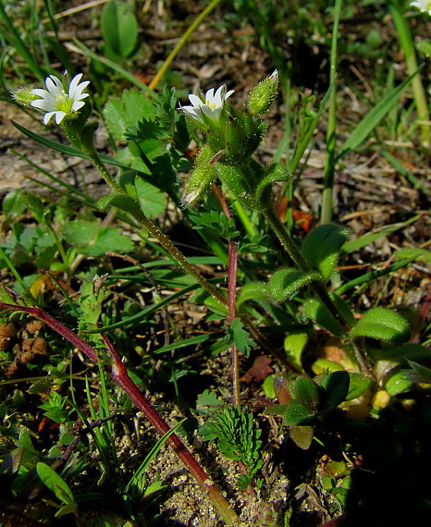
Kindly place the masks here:
[(138, 21), (126, 2), (113, 1), (104, 7), (101, 34), (111, 50), (122, 58), (133, 52), (138, 40)]

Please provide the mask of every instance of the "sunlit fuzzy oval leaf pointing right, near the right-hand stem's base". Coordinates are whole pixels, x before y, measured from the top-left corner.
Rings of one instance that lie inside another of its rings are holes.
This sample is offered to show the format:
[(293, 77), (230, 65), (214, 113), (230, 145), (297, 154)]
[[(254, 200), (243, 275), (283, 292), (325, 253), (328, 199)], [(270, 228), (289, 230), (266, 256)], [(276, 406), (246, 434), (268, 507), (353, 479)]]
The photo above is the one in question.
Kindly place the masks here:
[(410, 329), (407, 321), (398, 313), (377, 307), (365, 313), (350, 331), (350, 337), (371, 337), (403, 343), (409, 340)]

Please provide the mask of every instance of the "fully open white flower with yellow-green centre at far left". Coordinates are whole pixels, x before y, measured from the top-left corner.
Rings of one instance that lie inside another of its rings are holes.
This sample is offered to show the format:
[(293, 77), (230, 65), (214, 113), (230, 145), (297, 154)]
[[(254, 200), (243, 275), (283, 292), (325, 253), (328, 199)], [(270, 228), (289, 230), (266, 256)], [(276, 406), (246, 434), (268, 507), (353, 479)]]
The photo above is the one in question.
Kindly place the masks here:
[(49, 123), (52, 116), (56, 116), (56, 123), (59, 125), (63, 118), (73, 111), (78, 111), (85, 102), (81, 99), (88, 97), (88, 93), (83, 93), (90, 81), (79, 82), (82, 73), (75, 75), (70, 81), (68, 93), (65, 92), (63, 83), (55, 75), (49, 75), (45, 79), (47, 90), (35, 89), (31, 93), (41, 97), (32, 101), (30, 104), (35, 108), (46, 111), (43, 122)]

